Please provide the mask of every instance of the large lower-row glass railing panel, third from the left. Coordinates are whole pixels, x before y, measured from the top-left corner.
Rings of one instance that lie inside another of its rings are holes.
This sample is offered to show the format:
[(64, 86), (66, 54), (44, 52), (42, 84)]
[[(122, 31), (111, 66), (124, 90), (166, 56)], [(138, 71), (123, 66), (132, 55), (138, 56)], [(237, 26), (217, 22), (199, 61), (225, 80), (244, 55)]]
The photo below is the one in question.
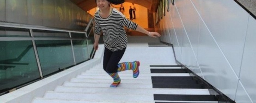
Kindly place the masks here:
[(81, 63), (89, 59), (86, 40), (72, 40), (75, 61)]

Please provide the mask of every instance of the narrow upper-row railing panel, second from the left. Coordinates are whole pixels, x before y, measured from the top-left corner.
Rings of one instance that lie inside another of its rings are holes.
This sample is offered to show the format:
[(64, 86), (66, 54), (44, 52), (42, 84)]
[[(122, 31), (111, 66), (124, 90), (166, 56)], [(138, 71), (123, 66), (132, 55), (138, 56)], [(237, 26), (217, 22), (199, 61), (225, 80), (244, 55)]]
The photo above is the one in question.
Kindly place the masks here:
[(69, 37), (67, 32), (33, 30), (34, 37)]

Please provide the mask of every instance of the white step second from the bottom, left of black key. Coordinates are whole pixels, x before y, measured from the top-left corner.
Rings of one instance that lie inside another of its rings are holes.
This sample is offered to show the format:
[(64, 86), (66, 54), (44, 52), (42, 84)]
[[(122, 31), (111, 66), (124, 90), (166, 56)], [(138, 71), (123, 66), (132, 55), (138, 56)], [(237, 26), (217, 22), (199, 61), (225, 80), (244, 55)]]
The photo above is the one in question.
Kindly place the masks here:
[(109, 94), (81, 94), (81, 93), (57, 93), (47, 92), (44, 98), (53, 99), (67, 99), (77, 101), (119, 101), (119, 102), (153, 102), (153, 95), (119, 95), (118, 92), (115, 95)]

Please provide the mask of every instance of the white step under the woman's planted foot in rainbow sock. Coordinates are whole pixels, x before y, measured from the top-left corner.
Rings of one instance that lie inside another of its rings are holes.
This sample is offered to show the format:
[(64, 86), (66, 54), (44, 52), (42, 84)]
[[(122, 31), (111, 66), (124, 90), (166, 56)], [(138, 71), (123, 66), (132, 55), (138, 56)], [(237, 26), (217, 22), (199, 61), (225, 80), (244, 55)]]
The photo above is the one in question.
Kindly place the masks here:
[[(113, 81), (112, 81), (113, 82)], [(74, 83), (74, 82), (64, 82), (63, 86), (72, 87), (109, 87), (112, 82), (109, 83)], [(121, 83), (118, 88), (152, 88), (152, 84), (132, 84), (132, 83)]]

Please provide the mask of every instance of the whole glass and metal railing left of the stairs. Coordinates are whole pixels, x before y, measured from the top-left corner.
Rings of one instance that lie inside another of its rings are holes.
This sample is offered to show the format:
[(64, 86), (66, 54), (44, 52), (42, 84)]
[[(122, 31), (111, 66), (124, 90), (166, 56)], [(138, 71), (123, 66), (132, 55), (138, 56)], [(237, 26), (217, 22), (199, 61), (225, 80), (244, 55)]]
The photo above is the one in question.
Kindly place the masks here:
[(85, 31), (0, 22), (0, 94), (92, 59), (93, 24)]

